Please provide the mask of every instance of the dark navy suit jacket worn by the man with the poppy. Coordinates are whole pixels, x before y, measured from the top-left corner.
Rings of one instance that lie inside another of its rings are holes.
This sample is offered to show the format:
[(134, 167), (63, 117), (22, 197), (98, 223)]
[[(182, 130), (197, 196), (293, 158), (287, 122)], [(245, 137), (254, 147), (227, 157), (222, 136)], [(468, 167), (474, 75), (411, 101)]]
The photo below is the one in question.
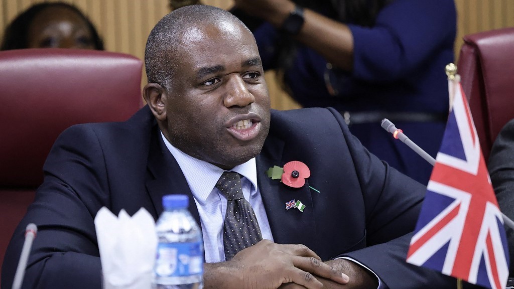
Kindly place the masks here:
[[(302, 188), (265, 174), (291, 160), (310, 169)], [(399, 237), (414, 229), (426, 188), (370, 154), (335, 110), (272, 111), (256, 164), (275, 242), (304, 244), (324, 260), (350, 256), (390, 288), (454, 286), (447, 277), (405, 262), (410, 238)], [(157, 219), (163, 195), (189, 194), (194, 204), (148, 107), (126, 122), (69, 128), (54, 144), (44, 171), (44, 183), (7, 250), (3, 289), (11, 287), (29, 222), (39, 232), (25, 288), (101, 288), (94, 225), (101, 207), (131, 215), (144, 207)], [(293, 198), (306, 206), (303, 212), (285, 209)], [(196, 207), (190, 210), (200, 223)]]

